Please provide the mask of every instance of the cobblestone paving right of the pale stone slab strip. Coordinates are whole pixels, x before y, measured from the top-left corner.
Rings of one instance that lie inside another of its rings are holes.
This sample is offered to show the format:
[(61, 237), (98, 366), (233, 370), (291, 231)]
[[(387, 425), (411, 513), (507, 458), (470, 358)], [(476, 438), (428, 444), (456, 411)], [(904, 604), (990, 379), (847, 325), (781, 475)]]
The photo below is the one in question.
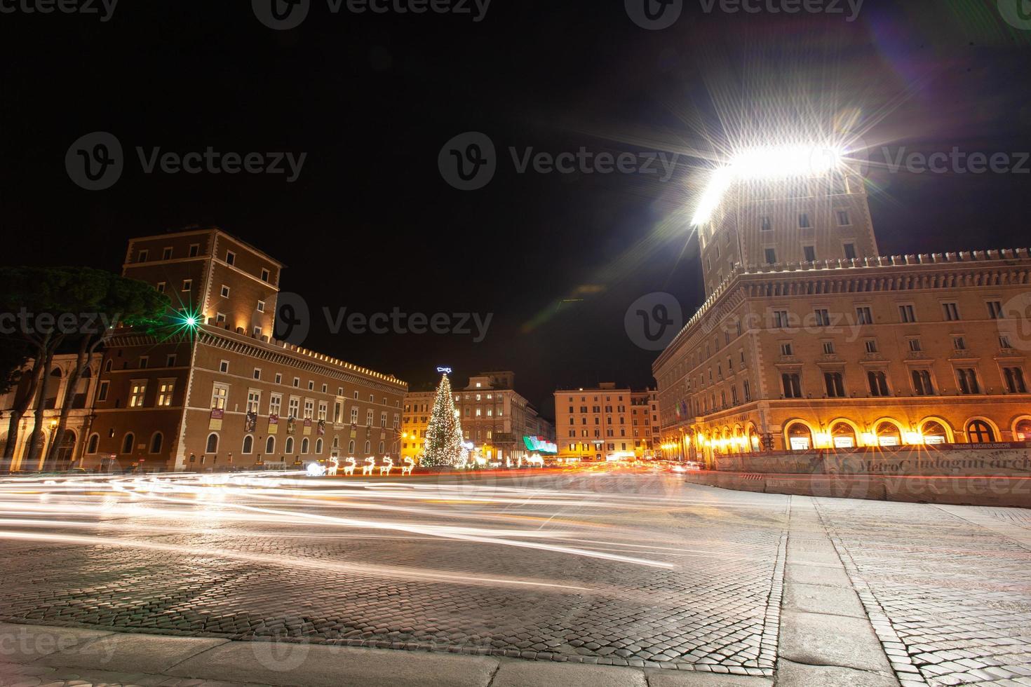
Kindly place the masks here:
[(1031, 684), (1031, 511), (817, 503), (900, 679)]

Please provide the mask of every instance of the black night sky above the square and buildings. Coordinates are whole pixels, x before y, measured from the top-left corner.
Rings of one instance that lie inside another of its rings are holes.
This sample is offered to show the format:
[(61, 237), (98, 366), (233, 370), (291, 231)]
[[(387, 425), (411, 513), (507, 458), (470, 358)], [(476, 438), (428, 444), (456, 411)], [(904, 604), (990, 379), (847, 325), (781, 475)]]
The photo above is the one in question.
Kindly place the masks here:
[[(653, 383), (656, 354), (628, 337), (624, 314), (653, 291), (687, 315), (699, 305), (687, 214), (700, 170), (734, 141), (847, 119), (874, 148), (1031, 149), (1031, 31), (995, 0), (867, 0), (853, 22), (845, 2), (845, 14), (744, 14), (684, 0), (658, 31), (623, 0), (493, 0), (480, 22), (311, 2), (290, 31), (241, 0), (123, 0), (108, 22), (0, 14), (3, 264), (118, 270), (131, 236), (218, 225), (289, 266), (282, 289), (314, 315), (306, 346), (413, 387), (438, 365), (460, 383), (510, 369), (550, 412), (557, 385)], [(89, 192), (65, 153), (95, 131), (120, 140), (126, 168)], [(486, 187), (463, 192), (437, 158), (467, 131), (487, 134), (498, 161)], [(294, 183), (144, 174), (136, 146), (307, 159)], [(678, 157), (668, 181), (520, 174), (509, 146)], [(1029, 181), (874, 162), (882, 252), (1026, 246)], [(332, 335), (323, 307), (493, 321), (480, 343)]]

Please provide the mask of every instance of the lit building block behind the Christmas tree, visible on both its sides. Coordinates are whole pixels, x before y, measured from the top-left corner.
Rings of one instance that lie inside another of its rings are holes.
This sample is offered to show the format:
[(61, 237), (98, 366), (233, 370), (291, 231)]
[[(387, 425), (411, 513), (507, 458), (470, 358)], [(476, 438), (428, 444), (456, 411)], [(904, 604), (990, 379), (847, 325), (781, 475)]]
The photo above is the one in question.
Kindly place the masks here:
[[(555, 440), (554, 426), (514, 390), (512, 372), (481, 372), (455, 391), (465, 440), (491, 461), (529, 457), (524, 437)], [(415, 458), (426, 443), (435, 391), (411, 391), (404, 399), (401, 454)]]

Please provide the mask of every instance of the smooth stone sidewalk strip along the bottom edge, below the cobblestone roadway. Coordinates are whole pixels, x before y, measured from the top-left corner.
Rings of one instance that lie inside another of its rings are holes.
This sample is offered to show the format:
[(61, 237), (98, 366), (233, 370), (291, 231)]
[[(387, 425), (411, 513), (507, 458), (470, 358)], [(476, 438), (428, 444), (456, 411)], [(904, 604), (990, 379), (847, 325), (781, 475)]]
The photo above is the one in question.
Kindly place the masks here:
[(769, 687), (766, 678), (309, 644), (0, 625), (0, 685)]

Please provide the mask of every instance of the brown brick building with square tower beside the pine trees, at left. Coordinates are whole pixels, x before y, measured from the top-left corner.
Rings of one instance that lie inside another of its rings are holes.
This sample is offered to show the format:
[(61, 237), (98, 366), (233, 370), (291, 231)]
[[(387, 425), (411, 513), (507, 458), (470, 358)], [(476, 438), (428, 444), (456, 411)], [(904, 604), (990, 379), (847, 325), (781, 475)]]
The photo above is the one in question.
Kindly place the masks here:
[(108, 342), (84, 465), (204, 471), (398, 455), (407, 385), (272, 338), (281, 269), (219, 229), (130, 240), (123, 274), (167, 294), (182, 322), (168, 337), (123, 330)]

